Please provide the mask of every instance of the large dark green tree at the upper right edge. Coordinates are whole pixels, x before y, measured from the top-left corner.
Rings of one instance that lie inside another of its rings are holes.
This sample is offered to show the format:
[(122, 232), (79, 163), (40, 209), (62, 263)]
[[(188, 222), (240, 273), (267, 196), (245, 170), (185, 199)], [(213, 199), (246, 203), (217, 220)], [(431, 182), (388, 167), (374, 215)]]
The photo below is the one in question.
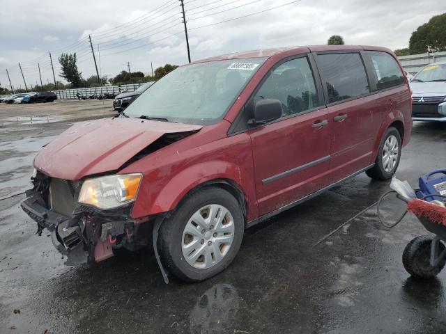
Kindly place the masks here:
[(411, 54), (446, 51), (446, 13), (419, 26), (410, 36), (409, 49)]

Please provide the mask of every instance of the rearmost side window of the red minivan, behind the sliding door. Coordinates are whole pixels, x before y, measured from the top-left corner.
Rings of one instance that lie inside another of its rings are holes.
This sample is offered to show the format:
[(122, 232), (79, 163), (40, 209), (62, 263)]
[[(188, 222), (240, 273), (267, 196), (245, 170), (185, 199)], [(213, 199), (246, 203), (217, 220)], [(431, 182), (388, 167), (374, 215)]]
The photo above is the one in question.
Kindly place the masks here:
[(403, 84), (403, 72), (395, 59), (385, 52), (367, 51), (376, 73), (376, 88), (384, 89)]

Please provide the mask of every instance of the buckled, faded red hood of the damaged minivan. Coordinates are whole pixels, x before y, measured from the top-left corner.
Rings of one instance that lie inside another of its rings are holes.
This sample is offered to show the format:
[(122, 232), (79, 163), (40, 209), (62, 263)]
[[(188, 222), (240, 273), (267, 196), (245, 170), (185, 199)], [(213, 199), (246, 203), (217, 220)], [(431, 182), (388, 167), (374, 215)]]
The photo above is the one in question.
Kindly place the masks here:
[(199, 129), (199, 125), (139, 118), (78, 122), (45, 145), (33, 164), (51, 177), (79, 180), (86, 175), (118, 170), (164, 134)]

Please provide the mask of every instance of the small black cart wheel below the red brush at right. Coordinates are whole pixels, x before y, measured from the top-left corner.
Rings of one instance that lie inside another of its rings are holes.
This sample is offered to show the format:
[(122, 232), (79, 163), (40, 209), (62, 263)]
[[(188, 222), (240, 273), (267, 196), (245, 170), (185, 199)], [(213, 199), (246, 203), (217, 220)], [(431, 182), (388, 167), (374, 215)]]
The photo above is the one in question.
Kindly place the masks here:
[[(445, 267), (446, 258), (435, 266), (430, 264), (432, 237), (422, 235), (410, 241), (403, 252), (403, 266), (411, 276), (415, 278), (434, 278)], [(445, 250), (445, 245), (440, 241), (438, 254)]]

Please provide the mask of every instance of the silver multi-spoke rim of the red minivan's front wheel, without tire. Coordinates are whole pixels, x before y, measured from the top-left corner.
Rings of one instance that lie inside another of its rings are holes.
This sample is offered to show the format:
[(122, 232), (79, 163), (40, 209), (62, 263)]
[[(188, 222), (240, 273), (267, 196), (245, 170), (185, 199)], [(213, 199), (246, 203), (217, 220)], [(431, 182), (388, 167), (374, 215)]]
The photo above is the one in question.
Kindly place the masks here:
[(197, 269), (220, 263), (234, 238), (234, 220), (226, 207), (210, 204), (192, 214), (183, 230), (181, 250), (186, 262)]

